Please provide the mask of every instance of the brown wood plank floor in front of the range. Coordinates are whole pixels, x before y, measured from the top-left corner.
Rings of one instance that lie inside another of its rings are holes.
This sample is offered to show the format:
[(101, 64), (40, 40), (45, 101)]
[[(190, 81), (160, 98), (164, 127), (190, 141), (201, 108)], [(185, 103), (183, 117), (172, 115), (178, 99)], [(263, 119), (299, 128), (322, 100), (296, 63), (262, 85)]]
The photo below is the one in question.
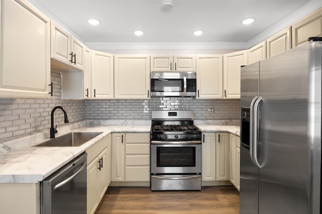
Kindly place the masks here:
[(151, 191), (149, 187), (110, 186), (95, 214), (239, 213), (233, 186), (205, 186), (201, 191)]

